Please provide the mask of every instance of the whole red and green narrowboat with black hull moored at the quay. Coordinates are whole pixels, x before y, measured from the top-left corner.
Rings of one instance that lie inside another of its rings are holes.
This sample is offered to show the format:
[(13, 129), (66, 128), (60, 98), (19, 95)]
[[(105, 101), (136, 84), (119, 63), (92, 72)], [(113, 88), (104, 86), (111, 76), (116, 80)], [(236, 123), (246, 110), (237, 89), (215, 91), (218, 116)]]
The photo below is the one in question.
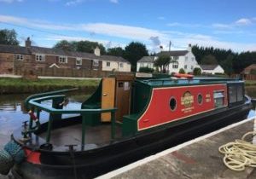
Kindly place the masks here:
[(102, 78), (79, 109), (65, 107), (69, 90), (29, 96), (29, 120), (0, 152), (1, 173), (92, 178), (246, 118), (252, 108), (241, 79), (174, 76)]

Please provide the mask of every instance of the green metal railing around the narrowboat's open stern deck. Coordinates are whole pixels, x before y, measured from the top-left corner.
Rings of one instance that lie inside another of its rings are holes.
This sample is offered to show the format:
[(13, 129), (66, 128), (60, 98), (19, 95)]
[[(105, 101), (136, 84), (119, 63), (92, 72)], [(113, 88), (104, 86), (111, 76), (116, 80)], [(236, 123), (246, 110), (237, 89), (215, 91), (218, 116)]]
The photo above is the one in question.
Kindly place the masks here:
[[(61, 90), (61, 92), (67, 92), (70, 90)], [(57, 94), (60, 93), (60, 91), (51, 92), (50, 94)], [(45, 96), (47, 95), (47, 96)], [(32, 111), (36, 111), (37, 118), (39, 120), (40, 118), (40, 112), (44, 111), (49, 113), (49, 122), (48, 122), (48, 128), (47, 128), (47, 136), (46, 136), (46, 142), (49, 143), (50, 141), (50, 134), (52, 130), (52, 123), (55, 119), (60, 119), (62, 114), (80, 114), (82, 117), (86, 114), (97, 114), (97, 113), (111, 113), (111, 139), (113, 140), (115, 138), (115, 112), (117, 108), (109, 108), (109, 109), (78, 109), (78, 110), (72, 110), (72, 109), (62, 109), (62, 107), (59, 106), (60, 102), (63, 101), (65, 98), (65, 95), (49, 95), (49, 93), (38, 94), (30, 96), (28, 99), (26, 99), (26, 107), (27, 110), (30, 109)], [(52, 100), (52, 107), (49, 105), (42, 104), (42, 101), (49, 101)], [(86, 118), (82, 118), (82, 139), (81, 139), (81, 146), (82, 149), (84, 149), (85, 144), (85, 120)], [(30, 118), (30, 125), (29, 129), (32, 130), (32, 118)]]

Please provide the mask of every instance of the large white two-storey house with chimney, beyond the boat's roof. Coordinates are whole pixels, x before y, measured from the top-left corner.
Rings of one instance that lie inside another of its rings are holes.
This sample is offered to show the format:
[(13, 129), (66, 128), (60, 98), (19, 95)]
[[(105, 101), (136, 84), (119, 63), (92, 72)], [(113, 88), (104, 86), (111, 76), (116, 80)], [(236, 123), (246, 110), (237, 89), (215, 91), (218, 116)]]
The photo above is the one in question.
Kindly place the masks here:
[(169, 55), (171, 57), (171, 63), (167, 69), (169, 73), (179, 72), (181, 68), (188, 73), (193, 72), (195, 67), (199, 67), (195, 60), (195, 55), (192, 53), (191, 44), (189, 44), (189, 47), (186, 50), (161, 51), (155, 56), (144, 56), (141, 60), (137, 61), (137, 72), (142, 66), (153, 67), (154, 61), (160, 55)]

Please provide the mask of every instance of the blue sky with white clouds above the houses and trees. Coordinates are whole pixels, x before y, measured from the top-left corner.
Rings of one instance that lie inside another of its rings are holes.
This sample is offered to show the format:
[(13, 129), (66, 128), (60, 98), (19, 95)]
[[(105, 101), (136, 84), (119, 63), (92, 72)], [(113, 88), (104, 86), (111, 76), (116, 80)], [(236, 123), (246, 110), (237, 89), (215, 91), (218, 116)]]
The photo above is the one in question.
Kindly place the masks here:
[(255, 9), (255, 0), (0, 0), (0, 29), (43, 47), (65, 39), (106, 48), (137, 41), (150, 52), (170, 42), (256, 51)]

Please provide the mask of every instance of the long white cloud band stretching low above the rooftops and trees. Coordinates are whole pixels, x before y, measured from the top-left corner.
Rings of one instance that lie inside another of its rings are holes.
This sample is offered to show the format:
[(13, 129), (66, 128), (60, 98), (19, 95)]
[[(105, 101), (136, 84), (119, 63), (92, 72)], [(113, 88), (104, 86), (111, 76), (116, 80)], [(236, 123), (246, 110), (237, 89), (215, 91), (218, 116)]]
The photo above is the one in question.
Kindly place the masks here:
[[(38, 30), (52, 30), (53, 33), (59, 31), (69, 31), (69, 32), (86, 32), (84, 35), (90, 36), (94, 34), (93, 38), (84, 38), (84, 37), (67, 37), (67, 36), (58, 36), (52, 40), (92, 40), (99, 41), (106, 45), (111, 46), (125, 46), (124, 42), (129, 42), (131, 40), (142, 41), (147, 44), (148, 49), (155, 49), (156, 46), (161, 43), (164, 47), (168, 48), (169, 41), (172, 41), (173, 47), (178, 49), (187, 47), (188, 43), (199, 44), (202, 46), (213, 46), (216, 48), (224, 49), (234, 49), (236, 51), (247, 51), (247, 50), (256, 50), (256, 43), (235, 43), (235, 42), (225, 42), (216, 37), (212, 37), (205, 34), (196, 34), (196, 33), (186, 33), (178, 31), (160, 31), (156, 29), (145, 28), (141, 26), (127, 26), (119, 24), (108, 24), (108, 23), (87, 23), (87, 24), (56, 24), (53, 22), (45, 22), (43, 20), (29, 20), (25, 18), (0, 15), (0, 21), (31, 27)], [(63, 33), (63, 32), (61, 32)], [(105, 39), (115, 39), (118, 42), (109, 43), (109, 40), (96, 39), (101, 35)], [(52, 38), (52, 37), (51, 37)]]

